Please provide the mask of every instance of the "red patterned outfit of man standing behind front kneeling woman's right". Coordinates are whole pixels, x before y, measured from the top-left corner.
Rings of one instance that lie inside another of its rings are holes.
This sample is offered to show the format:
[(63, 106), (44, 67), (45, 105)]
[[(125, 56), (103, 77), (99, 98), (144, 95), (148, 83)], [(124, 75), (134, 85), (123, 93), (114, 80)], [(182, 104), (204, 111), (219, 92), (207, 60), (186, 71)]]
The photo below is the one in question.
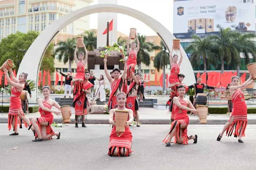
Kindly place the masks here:
[[(126, 108), (127, 109), (131, 109), (133, 111), (133, 118), (135, 118), (135, 110), (139, 110), (139, 102), (138, 102), (138, 95), (139, 95), (139, 91), (140, 91), (140, 85), (141, 82), (139, 81), (139, 87), (138, 89), (136, 89), (136, 82), (133, 81), (130, 86), (129, 86), (129, 90), (128, 90), (128, 94), (127, 94), (127, 102), (126, 102)], [(133, 90), (137, 90), (137, 96), (135, 97), (131, 97), (129, 95), (132, 94)], [(136, 103), (137, 102), (137, 103)]]

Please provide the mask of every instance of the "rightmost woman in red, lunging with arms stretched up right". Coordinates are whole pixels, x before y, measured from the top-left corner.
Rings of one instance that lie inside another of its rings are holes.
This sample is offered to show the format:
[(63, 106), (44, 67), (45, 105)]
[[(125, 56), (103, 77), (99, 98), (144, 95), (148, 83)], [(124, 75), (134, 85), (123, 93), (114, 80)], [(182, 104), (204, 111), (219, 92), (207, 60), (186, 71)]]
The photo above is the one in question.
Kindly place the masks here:
[(229, 88), (229, 91), (232, 97), (233, 109), (228, 123), (224, 125), (222, 132), (217, 137), (217, 141), (220, 141), (225, 131), (226, 135), (231, 136), (235, 130), (233, 134), (234, 137), (238, 136), (238, 142), (244, 143), (241, 138), (245, 136), (245, 129), (247, 126), (247, 105), (242, 91), (252, 84), (253, 81), (252, 73), (250, 74), (249, 79), (241, 85), (238, 85), (239, 77), (233, 76), (231, 78), (232, 86)]

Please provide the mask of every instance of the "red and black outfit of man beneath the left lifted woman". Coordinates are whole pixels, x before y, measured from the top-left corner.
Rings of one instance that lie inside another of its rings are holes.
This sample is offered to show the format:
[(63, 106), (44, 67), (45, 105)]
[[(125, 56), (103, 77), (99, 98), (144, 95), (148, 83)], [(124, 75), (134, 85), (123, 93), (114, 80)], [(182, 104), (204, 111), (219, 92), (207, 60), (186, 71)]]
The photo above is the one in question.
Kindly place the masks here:
[[(82, 89), (88, 90), (93, 87), (90, 81), (83, 82)], [(87, 100), (86, 93), (82, 92), (80, 95), (74, 96), (73, 107), (75, 108), (75, 114), (77, 116), (87, 115), (86, 108), (91, 108), (90, 102)]]

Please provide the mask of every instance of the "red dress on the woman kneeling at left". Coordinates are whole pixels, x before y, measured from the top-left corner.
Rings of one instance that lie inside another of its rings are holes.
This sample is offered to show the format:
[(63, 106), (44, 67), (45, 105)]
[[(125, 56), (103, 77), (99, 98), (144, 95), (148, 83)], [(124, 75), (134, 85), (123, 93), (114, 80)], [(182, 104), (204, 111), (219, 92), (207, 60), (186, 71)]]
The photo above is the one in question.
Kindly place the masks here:
[[(43, 104), (44, 104), (44, 107), (46, 107), (48, 109), (52, 109), (52, 105), (49, 102), (44, 101)], [(40, 118), (36, 118), (36, 120), (37, 120), (36, 124), (39, 126), (40, 132), (41, 132), (41, 125), (40, 125), (40, 123), (41, 122), (48, 122), (47, 130), (46, 130), (46, 135), (49, 135), (49, 134), (53, 135), (54, 131), (52, 130), (52, 127), (51, 127), (52, 122), (53, 122), (52, 112), (44, 111), (40, 107), (39, 107), (38, 111), (40, 112), (41, 117)], [(32, 125), (32, 123), (31, 123), (31, 125)], [(36, 138), (37, 138), (37, 133), (36, 133)]]

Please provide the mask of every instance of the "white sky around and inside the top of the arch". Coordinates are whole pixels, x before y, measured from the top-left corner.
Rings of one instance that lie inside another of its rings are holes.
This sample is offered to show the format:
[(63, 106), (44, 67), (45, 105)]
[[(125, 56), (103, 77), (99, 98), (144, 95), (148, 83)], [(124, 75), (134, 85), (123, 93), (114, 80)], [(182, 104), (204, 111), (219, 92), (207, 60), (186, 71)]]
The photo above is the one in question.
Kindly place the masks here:
[[(151, 3), (152, 2), (152, 3)], [(140, 12), (143, 12), (150, 17), (156, 19), (158, 22), (164, 25), (169, 31), (172, 32), (172, 20), (173, 20), (173, 0), (118, 0), (118, 5), (127, 6)], [(98, 0), (94, 0), (91, 5), (98, 4)], [(126, 23), (124, 24), (118, 23)], [(129, 23), (132, 23), (129, 26)], [(178, 24), (178, 23), (177, 23)], [(98, 14), (90, 15), (90, 29), (97, 29), (98, 26)], [(146, 24), (138, 19), (132, 18), (128, 15), (117, 14), (117, 31), (129, 35), (130, 27), (136, 26), (137, 32), (143, 35), (156, 35), (156, 33), (149, 28)]]

